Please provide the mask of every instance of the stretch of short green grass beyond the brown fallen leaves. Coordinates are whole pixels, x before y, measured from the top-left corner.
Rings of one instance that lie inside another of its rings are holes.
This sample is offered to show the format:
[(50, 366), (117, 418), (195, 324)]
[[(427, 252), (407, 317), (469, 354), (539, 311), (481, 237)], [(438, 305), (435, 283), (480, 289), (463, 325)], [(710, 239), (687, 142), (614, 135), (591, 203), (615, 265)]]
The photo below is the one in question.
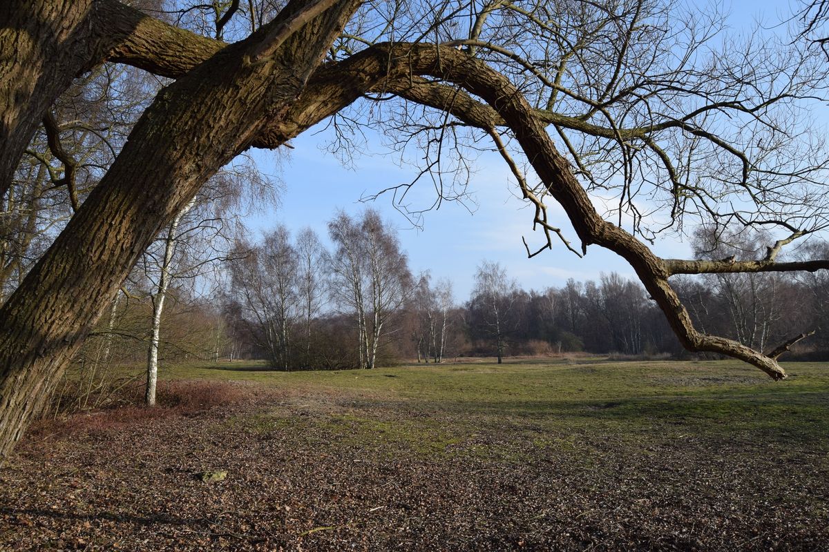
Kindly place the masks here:
[[(166, 377), (250, 381), (295, 397), (322, 393), (331, 405), (324, 415), (302, 418), (277, 409), (245, 427), (263, 433), (313, 425), (343, 444), (391, 444), (431, 456), (473, 443), (478, 434), (506, 434), (542, 449), (580, 446), (588, 456), (589, 446), (571, 435), (631, 446), (692, 435), (826, 449), (829, 369), (819, 363), (786, 368), (791, 377), (773, 382), (730, 361), (480, 362), (337, 372), (272, 372), (234, 362), (173, 367)], [(465, 448), (520, 459), (516, 447), (500, 449), (492, 443)]]

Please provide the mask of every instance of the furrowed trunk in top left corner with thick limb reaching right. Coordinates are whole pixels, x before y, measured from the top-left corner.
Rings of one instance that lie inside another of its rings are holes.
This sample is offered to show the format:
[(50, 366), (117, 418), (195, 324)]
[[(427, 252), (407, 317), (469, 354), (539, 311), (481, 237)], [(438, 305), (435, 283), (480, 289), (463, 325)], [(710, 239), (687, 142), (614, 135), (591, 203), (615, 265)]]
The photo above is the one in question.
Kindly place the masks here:
[(72, 79), (110, 53), (180, 76), (221, 46), (115, 0), (0, 2), (0, 198), (46, 110)]

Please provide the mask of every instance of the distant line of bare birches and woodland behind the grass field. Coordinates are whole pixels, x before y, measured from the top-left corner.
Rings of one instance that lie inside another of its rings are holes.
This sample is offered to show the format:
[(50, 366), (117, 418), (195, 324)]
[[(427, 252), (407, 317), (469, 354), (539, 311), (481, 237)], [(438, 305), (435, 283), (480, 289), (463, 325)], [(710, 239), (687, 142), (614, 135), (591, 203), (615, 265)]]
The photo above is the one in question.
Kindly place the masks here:
[[(564, 286), (525, 290), (507, 267), (482, 261), (464, 300), (454, 295), (452, 281), (411, 271), (397, 233), (375, 210), (353, 216), (340, 212), (327, 229), (331, 247), (312, 228), (292, 235), (282, 225), (258, 241), (236, 238), (214, 267), (221, 285), (199, 295), (187, 285), (191, 281), (179, 281), (168, 291), (173, 307), (164, 312), (163, 322), (158, 295), (142, 294), (138, 280), (133, 281), (133, 288), (113, 301), (109, 317), (76, 362), (129, 365), (141, 356), (136, 343), (143, 343), (155, 362), (148, 364), (153, 368), (147, 372), (149, 390), (159, 348), (167, 362), (264, 359), (285, 371), (466, 356), (502, 362), (516, 355), (690, 354), (645, 288), (615, 272), (597, 281), (570, 279)], [(727, 244), (711, 241), (704, 231), (694, 239), (701, 258), (754, 255), (762, 243), (764, 237), (756, 233), (731, 236)], [(815, 242), (809, 247), (829, 246)], [(185, 261), (196, 259), (171, 262), (171, 273)], [(705, 331), (759, 350), (793, 331), (816, 332), (794, 358), (829, 358), (829, 336), (822, 331), (829, 321), (829, 278), (820, 272), (679, 276), (673, 285)]]

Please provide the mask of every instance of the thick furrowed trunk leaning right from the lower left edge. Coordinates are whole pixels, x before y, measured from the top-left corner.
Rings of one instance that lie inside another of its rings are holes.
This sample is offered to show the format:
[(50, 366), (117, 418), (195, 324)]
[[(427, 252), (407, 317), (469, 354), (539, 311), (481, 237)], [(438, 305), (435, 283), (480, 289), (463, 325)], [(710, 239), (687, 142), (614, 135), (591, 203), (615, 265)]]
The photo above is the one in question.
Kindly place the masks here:
[(162, 90), (0, 309), (0, 457), (41, 410), (138, 255), (207, 178), (254, 142), (264, 118), (284, 117), (359, 4), (338, 2), (297, 29), (291, 23), (307, 15), (306, 3), (289, 3), (274, 22)]

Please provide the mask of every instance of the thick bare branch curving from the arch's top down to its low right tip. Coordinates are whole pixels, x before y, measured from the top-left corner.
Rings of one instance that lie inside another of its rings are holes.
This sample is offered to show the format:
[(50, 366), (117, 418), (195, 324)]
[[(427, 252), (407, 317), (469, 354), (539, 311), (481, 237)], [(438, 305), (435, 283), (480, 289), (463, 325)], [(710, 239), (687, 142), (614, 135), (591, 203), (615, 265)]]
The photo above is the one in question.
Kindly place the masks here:
[[(624, 257), (666, 314), (671, 327), (686, 348), (726, 354), (759, 367), (774, 379), (785, 377), (783, 368), (773, 358), (742, 343), (701, 334), (694, 328), (690, 315), (668, 283), (671, 271), (667, 263), (654, 255), (633, 235), (599, 216), (584, 188), (570, 170), (570, 163), (555, 150), (545, 131), (545, 122), (536, 115), (536, 111), (526, 103), (506, 77), (483, 62), (453, 48), (441, 51), (439, 63), (434, 46), (377, 45), (370, 50), (388, 52), (386, 57), (389, 62), (384, 67), (383, 76), (399, 78), (394, 74), (395, 69), (398, 69), (398, 65), (404, 65), (400, 70), (408, 69), (414, 73), (430, 74), (453, 82), (492, 106), (514, 132), (531, 165), (545, 183), (547, 191), (565, 209), (570, 223), (581, 238), (583, 250), (594, 243)], [(363, 69), (366, 69), (368, 55), (363, 54)], [(356, 60), (352, 60), (352, 63), (356, 63)], [(365, 77), (365, 73), (362, 75)], [(371, 86), (369, 81), (371, 79), (365, 79), (364, 84)], [(381, 84), (380, 80), (374, 85), (378, 84)]]

